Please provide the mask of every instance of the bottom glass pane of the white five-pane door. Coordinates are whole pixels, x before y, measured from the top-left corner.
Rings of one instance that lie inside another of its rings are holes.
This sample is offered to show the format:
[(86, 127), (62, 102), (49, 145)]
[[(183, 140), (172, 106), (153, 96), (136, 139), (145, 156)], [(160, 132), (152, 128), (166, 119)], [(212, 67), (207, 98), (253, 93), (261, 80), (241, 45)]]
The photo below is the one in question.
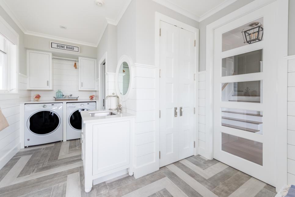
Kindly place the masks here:
[(246, 159), (250, 162), (263, 164), (263, 144), (250, 139), (221, 133), (221, 150)]

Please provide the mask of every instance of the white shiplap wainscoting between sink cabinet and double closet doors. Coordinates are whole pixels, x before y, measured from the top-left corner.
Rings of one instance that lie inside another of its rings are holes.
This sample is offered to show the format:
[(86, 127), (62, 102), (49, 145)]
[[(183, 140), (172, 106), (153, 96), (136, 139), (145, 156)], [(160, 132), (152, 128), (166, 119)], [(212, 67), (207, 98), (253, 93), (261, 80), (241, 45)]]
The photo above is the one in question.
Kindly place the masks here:
[(134, 177), (138, 178), (159, 169), (156, 127), (156, 67), (137, 64), (132, 67), (133, 87), (123, 110), (136, 114)]

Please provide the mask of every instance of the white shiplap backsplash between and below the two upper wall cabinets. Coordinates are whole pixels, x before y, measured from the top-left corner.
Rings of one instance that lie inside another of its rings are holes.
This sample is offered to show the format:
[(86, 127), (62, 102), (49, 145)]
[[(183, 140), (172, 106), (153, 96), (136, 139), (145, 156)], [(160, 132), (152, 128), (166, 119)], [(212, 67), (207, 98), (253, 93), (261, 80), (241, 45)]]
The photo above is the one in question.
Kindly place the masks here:
[[(89, 99), (90, 95), (96, 95), (96, 91), (79, 91), (78, 87), (78, 69), (74, 68), (73, 61), (53, 59), (53, 90), (32, 90), (31, 97), (40, 94), (42, 100), (54, 100), (56, 91), (61, 90), (64, 95), (72, 94), (73, 97), (79, 96), (78, 99)], [(77, 66), (79, 68), (78, 62)], [(96, 98), (94, 98), (96, 99)]]

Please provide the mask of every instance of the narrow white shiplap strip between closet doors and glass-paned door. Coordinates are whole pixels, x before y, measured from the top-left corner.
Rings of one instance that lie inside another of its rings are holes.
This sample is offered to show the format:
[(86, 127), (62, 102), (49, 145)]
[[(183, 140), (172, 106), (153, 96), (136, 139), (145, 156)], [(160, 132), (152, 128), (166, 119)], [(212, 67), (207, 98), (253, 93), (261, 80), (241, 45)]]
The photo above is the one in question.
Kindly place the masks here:
[(198, 73), (198, 154), (206, 156), (206, 72)]

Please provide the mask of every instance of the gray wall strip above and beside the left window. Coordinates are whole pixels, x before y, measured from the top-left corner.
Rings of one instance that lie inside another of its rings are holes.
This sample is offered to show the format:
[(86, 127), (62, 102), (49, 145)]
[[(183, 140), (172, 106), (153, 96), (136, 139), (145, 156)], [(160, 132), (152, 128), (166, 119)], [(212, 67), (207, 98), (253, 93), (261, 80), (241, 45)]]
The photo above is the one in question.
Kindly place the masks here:
[(20, 66), (19, 72), (26, 75), (27, 74), (27, 55), (26, 49), (24, 48), (24, 33), (23, 31), (16, 25), (16, 23), (9, 17), (9, 15), (4, 11), (4, 9), (0, 6), (0, 16), (18, 33), (20, 36)]

